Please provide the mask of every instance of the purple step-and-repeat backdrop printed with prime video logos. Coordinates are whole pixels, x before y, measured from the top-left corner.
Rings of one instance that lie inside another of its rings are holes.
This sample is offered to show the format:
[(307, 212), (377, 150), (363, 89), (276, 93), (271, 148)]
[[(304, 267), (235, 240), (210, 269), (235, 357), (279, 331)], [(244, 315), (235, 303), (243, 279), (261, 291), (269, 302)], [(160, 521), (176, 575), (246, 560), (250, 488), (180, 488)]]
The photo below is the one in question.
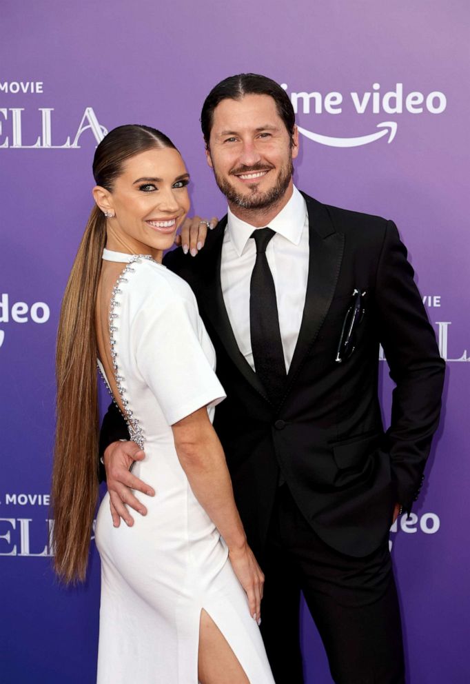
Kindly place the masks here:
[[(447, 380), (420, 499), (390, 533), (408, 681), (470, 681), (468, 20), (463, 0), (0, 3), (2, 684), (96, 676), (94, 541), (88, 580), (72, 589), (54, 578), (48, 545), (54, 343), (94, 148), (123, 123), (163, 130), (190, 170), (192, 209), (221, 217), (198, 119), (210, 88), (239, 72), (289, 94), (298, 187), (393, 219), (409, 248)], [(307, 684), (328, 684), (305, 607), (301, 620)]]

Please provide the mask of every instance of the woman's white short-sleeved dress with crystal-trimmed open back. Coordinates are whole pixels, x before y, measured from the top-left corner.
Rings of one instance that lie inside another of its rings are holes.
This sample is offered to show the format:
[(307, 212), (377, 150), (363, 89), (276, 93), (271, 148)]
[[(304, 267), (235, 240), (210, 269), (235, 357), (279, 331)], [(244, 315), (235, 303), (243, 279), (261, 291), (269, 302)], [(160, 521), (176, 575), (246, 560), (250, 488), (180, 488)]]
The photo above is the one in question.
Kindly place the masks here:
[(145, 450), (133, 472), (156, 494), (139, 494), (148, 512), (134, 515), (132, 527), (113, 527), (108, 494), (99, 508), (97, 682), (196, 684), (205, 610), (250, 683), (274, 684), (227, 547), (196, 500), (174, 447), (173, 423), (205, 405), (213, 414), (225, 397), (194, 294), (150, 257), (105, 250), (103, 259), (127, 262), (110, 305), (114, 376), (130, 434)]

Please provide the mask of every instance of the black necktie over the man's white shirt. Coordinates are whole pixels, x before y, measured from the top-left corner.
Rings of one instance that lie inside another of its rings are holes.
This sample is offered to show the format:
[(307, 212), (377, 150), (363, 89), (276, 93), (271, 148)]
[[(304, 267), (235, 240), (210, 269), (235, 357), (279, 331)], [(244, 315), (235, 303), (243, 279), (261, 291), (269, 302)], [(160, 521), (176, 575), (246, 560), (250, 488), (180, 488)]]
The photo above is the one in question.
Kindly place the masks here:
[(256, 262), (249, 285), (249, 325), (254, 368), (269, 399), (278, 404), (285, 389), (285, 361), (280, 339), (278, 305), (271, 270), (266, 259), (271, 228), (258, 228), (250, 237), (256, 242)]

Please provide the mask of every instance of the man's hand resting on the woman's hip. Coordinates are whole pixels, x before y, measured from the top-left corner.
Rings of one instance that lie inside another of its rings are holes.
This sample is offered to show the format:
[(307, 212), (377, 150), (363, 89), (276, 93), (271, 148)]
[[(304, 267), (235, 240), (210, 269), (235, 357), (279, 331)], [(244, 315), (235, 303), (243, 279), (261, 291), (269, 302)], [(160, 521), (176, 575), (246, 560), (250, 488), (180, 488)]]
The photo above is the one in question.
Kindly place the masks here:
[(145, 454), (135, 442), (113, 442), (105, 449), (103, 461), (114, 527), (119, 527), (121, 518), (129, 527), (134, 525), (134, 519), (124, 504), (134, 508), (141, 515), (147, 514), (145, 506), (130, 491), (132, 488), (147, 496), (155, 494), (152, 487), (129, 472), (134, 461), (143, 461), (143, 459), (145, 459)]

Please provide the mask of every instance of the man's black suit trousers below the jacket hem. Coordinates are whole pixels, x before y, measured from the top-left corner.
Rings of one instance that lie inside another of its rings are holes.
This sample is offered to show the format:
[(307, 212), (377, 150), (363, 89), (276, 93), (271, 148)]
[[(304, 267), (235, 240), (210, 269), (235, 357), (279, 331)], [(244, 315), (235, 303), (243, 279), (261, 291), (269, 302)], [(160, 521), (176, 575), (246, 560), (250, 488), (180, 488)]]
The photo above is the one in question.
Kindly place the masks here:
[(300, 591), (337, 684), (405, 682), (402, 629), (387, 543), (357, 559), (326, 545), (287, 485), (269, 525), (261, 633), (276, 684), (302, 684)]

